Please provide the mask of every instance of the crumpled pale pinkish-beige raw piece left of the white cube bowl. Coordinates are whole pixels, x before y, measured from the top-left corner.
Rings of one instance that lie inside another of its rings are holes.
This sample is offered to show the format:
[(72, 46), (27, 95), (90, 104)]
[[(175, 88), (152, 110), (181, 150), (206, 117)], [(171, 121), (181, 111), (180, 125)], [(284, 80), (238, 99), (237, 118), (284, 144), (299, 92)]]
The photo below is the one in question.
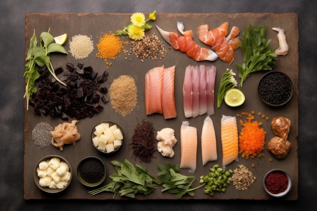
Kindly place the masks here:
[(76, 124), (77, 120), (72, 120), (71, 123), (63, 122), (55, 126), (52, 134), (52, 145), (63, 151), (64, 144), (73, 144), (81, 139), (81, 134), (78, 133)]

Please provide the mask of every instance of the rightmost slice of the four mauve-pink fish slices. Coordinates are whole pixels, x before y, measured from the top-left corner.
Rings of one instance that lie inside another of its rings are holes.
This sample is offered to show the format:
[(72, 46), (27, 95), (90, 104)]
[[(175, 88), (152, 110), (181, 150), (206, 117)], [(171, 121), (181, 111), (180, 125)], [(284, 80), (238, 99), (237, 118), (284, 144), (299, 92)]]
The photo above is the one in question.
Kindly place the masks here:
[[(201, 67), (202, 68), (202, 67)], [(216, 67), (208, 66), (206, 75), (206, 102), (207, 102), (207, 114), (215, 114), (215, 80), (216, 80)]]

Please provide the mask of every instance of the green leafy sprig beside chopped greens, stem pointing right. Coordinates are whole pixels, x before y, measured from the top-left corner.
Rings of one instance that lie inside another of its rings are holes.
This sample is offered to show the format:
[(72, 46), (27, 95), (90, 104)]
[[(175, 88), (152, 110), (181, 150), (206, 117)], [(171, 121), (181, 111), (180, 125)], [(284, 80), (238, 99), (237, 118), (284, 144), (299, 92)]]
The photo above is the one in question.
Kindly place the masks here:
[(173, 165), (170, 162), (166, 162), (166, 166), (164, 166), (163, 164), (157, 164), (157, 167), (159, 167), (159, 169), (161, 170), (161, 172), (159, 172), (159, 180), (164, 187), (164, 189), (162, 189), (162, 192), (168, 191), (168, 193), (176, 194), (176, 198), (178, 199), (186, 194), (194, 196), (194, 190), (199, 189), (205, 185), (202, 184), (195, 188), (191, 188), (195, 177), (188, 177), (179, 174), (179, 164)]

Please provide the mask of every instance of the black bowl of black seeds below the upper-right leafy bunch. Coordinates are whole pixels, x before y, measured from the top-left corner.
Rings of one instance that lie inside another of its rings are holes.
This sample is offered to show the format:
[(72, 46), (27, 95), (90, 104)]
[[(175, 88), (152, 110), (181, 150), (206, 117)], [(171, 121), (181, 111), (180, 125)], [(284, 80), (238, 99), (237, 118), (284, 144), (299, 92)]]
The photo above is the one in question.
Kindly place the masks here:
[(259, 80), (258, 93), (260, 99), (270, 106), (285, 105), (293, 95), (292, 80), (283, 72), (270, 71)]

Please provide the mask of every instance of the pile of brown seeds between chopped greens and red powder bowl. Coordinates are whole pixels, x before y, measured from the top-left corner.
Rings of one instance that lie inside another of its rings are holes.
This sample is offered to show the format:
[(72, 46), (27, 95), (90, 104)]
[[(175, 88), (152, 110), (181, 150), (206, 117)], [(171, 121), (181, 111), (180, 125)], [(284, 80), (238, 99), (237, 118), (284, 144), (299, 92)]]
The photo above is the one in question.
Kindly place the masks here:
[(233, 185), (237, 190), (247, 190), (252, 186), (255, 177), (244, 164), (238, 165), (232, 173)]

